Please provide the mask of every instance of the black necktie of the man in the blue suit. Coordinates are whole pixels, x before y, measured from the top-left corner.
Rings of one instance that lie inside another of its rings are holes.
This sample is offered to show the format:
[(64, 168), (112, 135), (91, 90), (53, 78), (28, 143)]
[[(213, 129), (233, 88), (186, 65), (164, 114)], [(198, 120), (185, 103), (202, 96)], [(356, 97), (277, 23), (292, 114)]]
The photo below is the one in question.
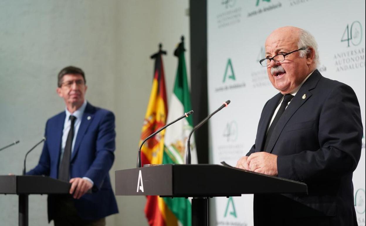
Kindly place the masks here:
[(72, 139), (74, 138), (74, 124), (76, 117), (74, 115), (70, 115), (70, 131), (67, 135), (66, 145), (64, 149), (64, 155), (60, 162), (59, 166), (59, 179), (63, 181), (69, 181), (69, 170), (70, 170), (70, 156), (71, 156), (71, 148), (72, 148)]

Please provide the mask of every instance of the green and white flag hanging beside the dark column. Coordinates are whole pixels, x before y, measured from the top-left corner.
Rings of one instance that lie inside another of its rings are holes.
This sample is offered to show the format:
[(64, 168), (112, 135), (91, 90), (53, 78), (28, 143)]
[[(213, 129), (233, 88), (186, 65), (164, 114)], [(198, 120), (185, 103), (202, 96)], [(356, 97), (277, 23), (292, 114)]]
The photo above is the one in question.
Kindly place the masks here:
[[(180, 42), (174, 55), (178, 57), (178, 68), (175, 77), (174, 89), (169, 105), (167, 122), (171, 122), (182, 116), (185, 112), (192, 110), (191, 97), (187, 82), (186, 62), (184, 59), (184, 42)], [(165, 129), (165, 150), (163, 164), (184, 164), (186, 160), (187, 139), (193, 128), (192, 116), (183, 118)], [(191, 163), (197, 164), (197, 153), (195, 151), (194, 138), (191, 137)], [(165, 204), (178, 219), (179, 225), (191, 225), (191, 203), (185, 198), (164, 198)], [(167, 225), (176, 225), (167, 224)]]

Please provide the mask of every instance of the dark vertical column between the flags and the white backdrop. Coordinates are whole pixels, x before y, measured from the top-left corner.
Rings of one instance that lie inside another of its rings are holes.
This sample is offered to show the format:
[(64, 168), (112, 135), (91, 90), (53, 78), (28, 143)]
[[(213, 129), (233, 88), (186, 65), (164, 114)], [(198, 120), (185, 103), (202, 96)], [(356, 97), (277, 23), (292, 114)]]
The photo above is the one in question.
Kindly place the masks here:
[[(208, 115), (207, 1), (190, 0), (191, 103), (193, 123)], [(194, 132), (198, 163), (208, 163), (208, 123)]]

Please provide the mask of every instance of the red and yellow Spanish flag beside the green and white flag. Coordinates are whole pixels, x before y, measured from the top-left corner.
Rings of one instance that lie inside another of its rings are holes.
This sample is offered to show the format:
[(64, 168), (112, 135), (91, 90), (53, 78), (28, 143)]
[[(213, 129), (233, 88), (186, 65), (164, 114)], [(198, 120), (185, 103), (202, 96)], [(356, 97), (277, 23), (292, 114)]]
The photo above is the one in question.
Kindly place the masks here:
[[(154, 79), (142, 126), (140, 144), (150, 134), (163, 127), (167, 121), (167, 93), (165, 90), (163, 59), (161, 57), (163, 52), (160, 50), (152, 56), (155, 59)], [(164, 134), (165, 130), (150, 138), (142, 146), (142, 166), (144, 164), (163, 163)], [(175, 215), (169, 210), (164, 200), (158, 196), (147, 196), (145, 215), (150, 226), (178, 225)]]

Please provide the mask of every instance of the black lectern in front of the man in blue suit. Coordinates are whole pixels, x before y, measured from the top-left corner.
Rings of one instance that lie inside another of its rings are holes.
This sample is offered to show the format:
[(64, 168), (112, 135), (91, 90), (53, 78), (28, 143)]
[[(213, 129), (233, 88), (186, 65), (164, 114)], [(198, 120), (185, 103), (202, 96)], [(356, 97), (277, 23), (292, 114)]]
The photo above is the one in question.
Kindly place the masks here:
[(1, 176), (0, 194), (19, 195), (19, 226), (28, 226), (29, 194), (67, 194), (71, 184), (45, 176)]

